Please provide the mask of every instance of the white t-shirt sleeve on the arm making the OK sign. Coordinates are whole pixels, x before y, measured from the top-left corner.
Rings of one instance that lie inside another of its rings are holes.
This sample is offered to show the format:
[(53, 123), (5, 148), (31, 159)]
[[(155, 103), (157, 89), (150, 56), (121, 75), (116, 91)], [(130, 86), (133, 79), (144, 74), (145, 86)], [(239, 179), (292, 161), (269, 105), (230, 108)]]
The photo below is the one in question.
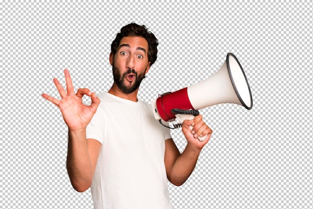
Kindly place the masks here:
[(99, 107), (100, 106), (98, 106), (91, 121), (86, 127), (86, 138), (93, 138), (102, 144), (104, 140), (103, 134), (104, 120), (103, 120), (103, 111)]

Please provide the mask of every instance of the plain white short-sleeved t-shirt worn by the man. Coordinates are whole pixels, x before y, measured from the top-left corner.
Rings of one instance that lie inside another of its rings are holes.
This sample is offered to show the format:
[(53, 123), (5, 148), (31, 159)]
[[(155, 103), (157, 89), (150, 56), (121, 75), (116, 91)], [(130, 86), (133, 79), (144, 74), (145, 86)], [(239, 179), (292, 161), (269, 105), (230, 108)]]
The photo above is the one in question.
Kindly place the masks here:
[(94, 209), (167, 209), (164, 165), (168, 128), (159, 124), (147, 103), (133, 102), (108, 92), (100, 94), (86, 137), (101, 150), (91, 185)]

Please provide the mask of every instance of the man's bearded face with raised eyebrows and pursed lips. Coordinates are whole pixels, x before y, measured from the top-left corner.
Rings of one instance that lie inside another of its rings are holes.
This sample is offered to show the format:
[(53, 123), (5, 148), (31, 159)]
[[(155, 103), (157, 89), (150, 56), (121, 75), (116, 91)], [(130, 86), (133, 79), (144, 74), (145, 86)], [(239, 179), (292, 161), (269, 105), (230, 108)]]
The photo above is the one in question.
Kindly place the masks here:
[(148, 42), (139, 36), (126, 36), (120, 40), (116, 53), (110, 54), (113, 78), (124, 93), (138, 89), (141, 80), (150, 68)]

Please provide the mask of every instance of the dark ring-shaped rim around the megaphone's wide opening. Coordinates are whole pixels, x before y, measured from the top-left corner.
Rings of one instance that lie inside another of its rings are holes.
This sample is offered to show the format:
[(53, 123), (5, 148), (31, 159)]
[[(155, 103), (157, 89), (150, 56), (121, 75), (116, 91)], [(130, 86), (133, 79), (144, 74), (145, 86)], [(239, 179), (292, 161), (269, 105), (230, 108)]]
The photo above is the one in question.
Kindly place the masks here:
[[(239, 91), (238, 91), (238, 89), (236, 87), (235, 80), (233, 78), (233, 75), (232, 75), (232, 72), (231, 72), (231, 69), (230, 69), (229, 56), (232, 56), (236, 60), (238, 66), (241, 69), (242, 75), (244, 76), (244, 79), (245, 79), (245, 82), (246, 82), (246, 85), (247, 85), (247, 89), (249, 91), (249, 97), (250, 97), (250, 105), (249, 106), (243, 101), (243, 99), (241, 98), (240, 93), (239, 93)], [(229, 77), (230, 77), (230, 80), (231, 80), (231, 84), (233, 86), (233, 89), (234, 89), (234, 91), (235, 91), (239, 101), (241, 102), (242, 106), (244, 106), (246, 109), (251, 109), (252, 108), (252, 94), (251, 94), (251, 90), (250, 90), (250, 86), (249, 86), (248, 80), (246, 78), (246, 75), (245, 75), (245, 73), (243, 71), (243, 68), (242, 68), (240, 62), (238, 61), (237, 57), (233, 53), (227, 53), (226, 64), (227, 64), (227, 70), (228, 70), (228, 74), (229, 74)]]

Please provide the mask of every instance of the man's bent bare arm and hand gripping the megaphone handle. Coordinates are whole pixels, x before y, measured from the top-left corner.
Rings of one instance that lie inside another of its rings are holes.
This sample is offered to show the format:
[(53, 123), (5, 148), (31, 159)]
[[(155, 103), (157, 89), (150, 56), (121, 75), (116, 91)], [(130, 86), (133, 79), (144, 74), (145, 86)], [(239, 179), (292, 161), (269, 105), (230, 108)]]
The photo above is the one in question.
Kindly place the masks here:
[[(193, 129), (190, 130), (189, 126)], [(212, 130), (203, 122), (202, 116), (198, 115), (192, 120), (185, 120), (182, 126), (188, 143), (180, 154), (172, 139), (165, 140), (164, 163), (168, 180), (174, 185), (182, 185), (192, 173), (202, 147), (208, 142)], [(200, 141), (197, 137), (206, 135)]]

